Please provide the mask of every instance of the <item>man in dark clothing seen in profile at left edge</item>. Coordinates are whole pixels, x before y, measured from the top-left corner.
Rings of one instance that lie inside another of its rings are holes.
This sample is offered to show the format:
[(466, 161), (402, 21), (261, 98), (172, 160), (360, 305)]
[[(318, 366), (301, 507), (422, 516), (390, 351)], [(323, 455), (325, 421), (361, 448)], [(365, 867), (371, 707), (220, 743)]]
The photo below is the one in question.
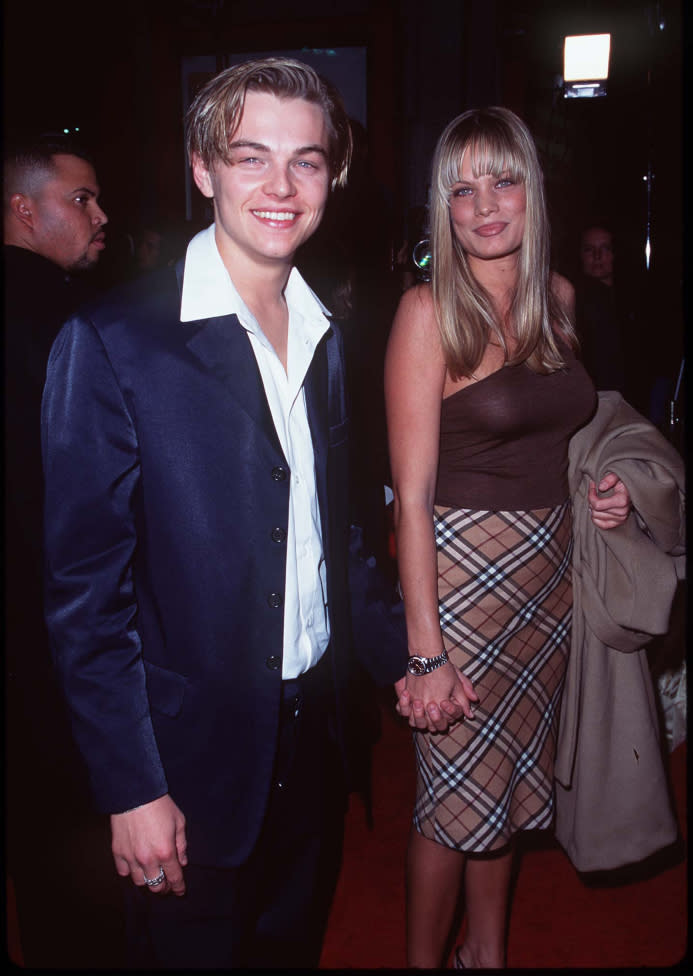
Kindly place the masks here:
[[(93, 897), (79, 870), (73, 869), (67, 890), (58, 880), (66, 865), (74, 865), (77, 834), (96, 837), (101, 825), (90, 811), (43, 622), (40, 426), (51, 345), (91, 289), (90, 272), (105, 246), (99, 193), (82, 146), (55, 134), (20, 140), (8, 133), (3, 147), (6, 865), (24, 963), (38, 968), (96, 964), (98, 950), (92, 947), (104, 934), (104, 923), (95, 925), (90, 918)], [(57, 790), (69, 801), (47, 818), (46, 796)], [(101, 871), (103, 878), (107, 851), (101, 858), (92, 852), (90, 860), (91, 871)], [(112, 884), (111, 891), (115, 888)], [(76, 917), (88, 920), (93, 941), (84, 938), (75, 945), (70, 938)], [(106, 928), (112, 931), (111, 919)]]

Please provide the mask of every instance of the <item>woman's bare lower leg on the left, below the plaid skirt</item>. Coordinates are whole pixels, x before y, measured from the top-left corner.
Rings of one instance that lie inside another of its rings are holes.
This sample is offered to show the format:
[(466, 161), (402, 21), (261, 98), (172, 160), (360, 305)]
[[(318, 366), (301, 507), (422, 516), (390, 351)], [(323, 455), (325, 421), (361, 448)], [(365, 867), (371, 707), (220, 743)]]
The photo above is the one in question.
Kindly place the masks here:
[(460, 894), (465, 856), (411, 828), (407, 850), (407, 962), (439, 969)]

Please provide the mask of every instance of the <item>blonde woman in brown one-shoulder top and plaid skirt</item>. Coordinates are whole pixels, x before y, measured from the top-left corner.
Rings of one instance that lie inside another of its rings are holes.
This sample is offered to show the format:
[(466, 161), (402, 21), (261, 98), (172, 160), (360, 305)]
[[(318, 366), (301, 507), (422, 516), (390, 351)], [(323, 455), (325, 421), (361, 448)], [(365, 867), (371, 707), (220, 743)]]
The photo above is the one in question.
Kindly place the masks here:
[[(431, 180), (430, 285), (402, 297), (386, 361), (417, 798), (407, 858), (413, 967), (506, 964), (513, 838), (553, 814), (570, 643), (570, 436), (596, 394), (576, 358), (574, 293), (549, 270), (543, 177), (504, 108), (443, 132)], [(607, 475), (592, 518), (626, 518)]]

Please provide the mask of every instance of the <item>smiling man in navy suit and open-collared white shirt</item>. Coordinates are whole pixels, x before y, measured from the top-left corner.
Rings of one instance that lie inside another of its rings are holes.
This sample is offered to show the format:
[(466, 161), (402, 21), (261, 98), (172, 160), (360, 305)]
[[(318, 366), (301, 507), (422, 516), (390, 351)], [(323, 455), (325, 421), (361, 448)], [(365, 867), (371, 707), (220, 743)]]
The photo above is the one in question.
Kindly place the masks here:
[[(214, 224), (53, 347), (47, 621), (130, 962), (312, 967), (351, 756), (348, 418), (293, 257), (351, 137), (312, 69), (268, 59), (212, 79), (186, 139)], [(367, 663), (388, 684), (403, 654)]]

